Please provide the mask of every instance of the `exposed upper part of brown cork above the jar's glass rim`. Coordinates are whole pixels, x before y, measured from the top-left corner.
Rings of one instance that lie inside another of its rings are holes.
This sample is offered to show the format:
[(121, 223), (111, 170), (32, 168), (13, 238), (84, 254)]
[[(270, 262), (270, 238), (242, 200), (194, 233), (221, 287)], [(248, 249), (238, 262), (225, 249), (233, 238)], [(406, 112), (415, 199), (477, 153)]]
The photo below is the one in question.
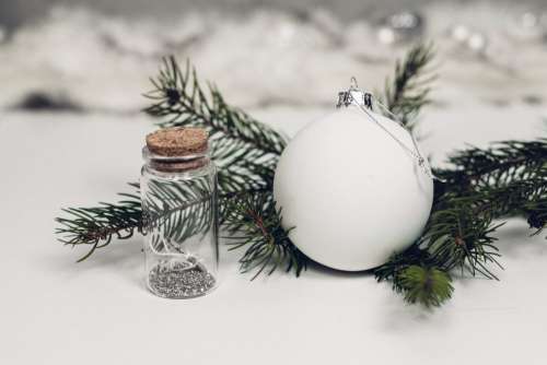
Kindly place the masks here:
[(155, 155), (187, 156), (206, 152), (208, 138), (202, 128), (165, 128), (148, 134), (147, 146)]

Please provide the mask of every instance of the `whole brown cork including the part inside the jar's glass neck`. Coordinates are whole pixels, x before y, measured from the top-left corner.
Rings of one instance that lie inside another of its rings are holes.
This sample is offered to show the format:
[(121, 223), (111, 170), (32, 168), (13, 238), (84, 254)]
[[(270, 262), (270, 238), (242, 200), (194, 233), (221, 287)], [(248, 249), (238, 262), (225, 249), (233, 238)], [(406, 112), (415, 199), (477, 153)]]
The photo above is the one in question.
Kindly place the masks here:
[(209, 133), (202, 128), (174, 127), (147, 136), (143, 156), (160, 172), (184, 172), (205, 166)]

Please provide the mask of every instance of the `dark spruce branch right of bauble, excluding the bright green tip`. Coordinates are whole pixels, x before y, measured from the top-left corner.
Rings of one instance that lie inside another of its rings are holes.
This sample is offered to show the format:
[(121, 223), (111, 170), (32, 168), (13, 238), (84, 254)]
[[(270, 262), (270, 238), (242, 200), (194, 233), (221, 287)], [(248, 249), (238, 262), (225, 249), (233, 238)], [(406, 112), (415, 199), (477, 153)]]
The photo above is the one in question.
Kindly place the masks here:
[(493, 234), (502, 223), (494, 222), (524, 216), (536, 233), (545, 227), (544, 139), (469, 148), (453, 154), (449, 162), (451, 167), (435, 170), (446, 182), (435, 185), (432, 213), (422, 236), (374, 271), (379, 281), (391, 280), (397, 286), (399, 273), (412, 264), (497, 279), (491, 267), (501, 264)]

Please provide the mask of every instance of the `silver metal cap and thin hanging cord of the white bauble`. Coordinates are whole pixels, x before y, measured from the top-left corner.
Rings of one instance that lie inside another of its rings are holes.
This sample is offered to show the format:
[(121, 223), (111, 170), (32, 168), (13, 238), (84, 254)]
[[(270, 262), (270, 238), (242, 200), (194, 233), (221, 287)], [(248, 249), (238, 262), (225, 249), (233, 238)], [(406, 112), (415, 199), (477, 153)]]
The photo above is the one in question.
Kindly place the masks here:
[[(382, 123), (380, 123), (374, 115), (371, 113), (373, 111), (373, 102), (374, 104), (379, 105), (384, 111), (384, 114), (388, 115), (393, 120), (399, 125), (401, 128), (407, 130), (407, 132), (410, 134), (410, 138), (412, 140), (412, 148), (407, 146), (401, 140), (399, 140), (397, 137), (395, 137), (389, 130), (387, 130)], [(382, 104), (377, 98), (375, 98), (372, 93), (363, 91), (359, 89), (359, 85), (357, 83), (357, 79), (354, 76), (351, 78), (350, 80), (350, 87), (347, 91), (342, 91), (338, 93), (338, 103), (336, 103), (336, 107), (340, 108), (342, 106), (348, 107), (350, 105), (356, 105), (358, 106), (369, 118), (372, 119), (379, 126), (382, 128), (387, 134), (392, 137), (393, 140), (395, 140), (404, 150), (406, 150), (410, 155), (412, 155), (416, 158), (416, 162), (418, 163), (418, 166), (428, 175), (430, 178), (439, 180), (439, 181), (444, 181), (440, 179), (439, 177), (433, 175), (433, 172), (429, 167), (428, 164), (426, 164), (426, 160), (420, 153), (420, 150), (418, 149), (418, 143), (416, 142), (416, 139), (414, 138), (412, 133), (408, 130), (408, 128), (405, 127), (405, 125), (397, 118), (396, 115), (394, 115), (384, 104)]]

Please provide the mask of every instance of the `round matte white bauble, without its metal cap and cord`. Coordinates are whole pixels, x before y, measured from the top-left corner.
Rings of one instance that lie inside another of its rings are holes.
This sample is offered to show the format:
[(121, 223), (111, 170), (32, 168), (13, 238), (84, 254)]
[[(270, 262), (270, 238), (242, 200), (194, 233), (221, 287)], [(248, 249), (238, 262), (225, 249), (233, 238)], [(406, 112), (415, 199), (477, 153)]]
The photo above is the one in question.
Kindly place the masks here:
[[(372, 115), (414, 150), (407, 130)], [(433, 181), (415, 156), (350, 105), (312, 122), (289, 143), (274, 196), (302, 252), (327, 267), (358, 271), (386, 262), (420, 236)]]

